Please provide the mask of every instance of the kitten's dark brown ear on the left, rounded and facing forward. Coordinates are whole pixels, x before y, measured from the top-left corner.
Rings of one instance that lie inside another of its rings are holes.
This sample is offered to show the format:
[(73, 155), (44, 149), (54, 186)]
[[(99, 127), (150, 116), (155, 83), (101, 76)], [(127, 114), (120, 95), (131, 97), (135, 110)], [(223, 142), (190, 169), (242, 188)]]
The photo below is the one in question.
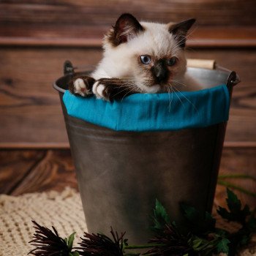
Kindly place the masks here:
[(122, 14), (116, 21), (116, 25), (113, 29), (115, 45), (127, 42), (129, 38), (135, 37), (136, 34), (144, 30), (138, 20), (129, 13)]

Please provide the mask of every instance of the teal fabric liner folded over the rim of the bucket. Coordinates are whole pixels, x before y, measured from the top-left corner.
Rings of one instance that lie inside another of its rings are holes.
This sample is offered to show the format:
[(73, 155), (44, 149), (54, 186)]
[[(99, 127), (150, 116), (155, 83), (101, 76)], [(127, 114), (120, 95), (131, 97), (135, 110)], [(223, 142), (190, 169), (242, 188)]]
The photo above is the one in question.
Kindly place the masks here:
[(164, 131), (208, 127), (227, 121), (230, 97), (226, 85), (172, 94), (132, 94), (120, 101), (64, 93), (70, 116), (116, 131)]

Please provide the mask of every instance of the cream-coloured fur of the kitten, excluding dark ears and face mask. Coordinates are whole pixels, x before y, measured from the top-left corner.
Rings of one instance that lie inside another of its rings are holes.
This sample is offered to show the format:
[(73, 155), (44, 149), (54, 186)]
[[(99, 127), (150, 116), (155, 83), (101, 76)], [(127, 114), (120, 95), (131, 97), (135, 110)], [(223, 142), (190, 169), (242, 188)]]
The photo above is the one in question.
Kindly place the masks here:
[[(141, 70), (138, 64), (138, 56), (149, 55), (158, 59), (165, 56), (176, 56), (179, 61), (176, 67), (173, 67), (175, 76), (173, 80), (168, 82), (179, 91), (200, 89), (197, 81), (185, 75), (187, 61), (184, 50), (178, 46), (179, 42), (168, 31), (170, 23), (140, 22), (140, 24), (145, 30), (135, 37), (128, 37), (127, 42), (118, 46), (112, 45), (108, 42), (108, 37), (105, 37), (102, 61), (99, 62), (97, 69), (91, 76), (95, 80), (99, 78), (129, 78), (138, 86), (140, 91), (156, 93), (161, 91), (162, 88), (157, 84), (147, 86), (148, 74)], [(102, 97), (103, 89), (104, 85), (98, 82), (94, 83), (93, 92), (97, 98)]]

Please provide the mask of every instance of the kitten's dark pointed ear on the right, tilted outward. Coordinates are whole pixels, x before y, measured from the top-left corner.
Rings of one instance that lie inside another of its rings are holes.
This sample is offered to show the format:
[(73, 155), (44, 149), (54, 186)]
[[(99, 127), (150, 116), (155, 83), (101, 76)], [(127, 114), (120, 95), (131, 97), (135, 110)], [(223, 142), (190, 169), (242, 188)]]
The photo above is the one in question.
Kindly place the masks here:
[(190, 19), (184, 20), (180, 23), (171, 23), (170, 25), (168, 25), (169, 32), (173, 34), (176, 39), (178, 39), (178, 45), (180, 45), (181, 48), (185, 47), (187, 31), (189, 31), (194, 23), (195, 19)]

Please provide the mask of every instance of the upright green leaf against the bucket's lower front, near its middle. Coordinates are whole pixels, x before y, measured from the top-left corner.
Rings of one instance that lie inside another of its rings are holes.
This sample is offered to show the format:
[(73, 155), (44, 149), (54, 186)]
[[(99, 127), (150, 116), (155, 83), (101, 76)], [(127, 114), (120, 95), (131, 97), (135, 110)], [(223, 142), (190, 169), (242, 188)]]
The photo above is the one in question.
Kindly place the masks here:
[(156, 206), (154, 208), (154, 226), (152, 230), (159, 231), (163, 230), (166, 224), (170, 224), (170, 217), (168, 216), (165, 207), (162, 206), (162, 203), (156, 199)]

